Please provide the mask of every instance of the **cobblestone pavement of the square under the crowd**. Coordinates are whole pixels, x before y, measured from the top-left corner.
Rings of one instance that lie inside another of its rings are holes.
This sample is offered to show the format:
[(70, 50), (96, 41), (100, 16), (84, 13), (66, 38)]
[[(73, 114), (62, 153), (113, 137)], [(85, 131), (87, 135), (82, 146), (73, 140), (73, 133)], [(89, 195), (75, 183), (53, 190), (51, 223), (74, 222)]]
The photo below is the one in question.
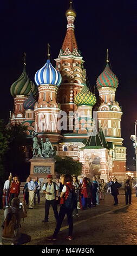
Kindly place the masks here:
[[(41, 197), (40, 205), (36, 204), (33, 210), (28, 209), (28, 217), (22, 223), (22, 233), (31, 236), (31, 241), (25, 245), (137, 245), (136, 201), (133, 191), (132, 205), (125, 205), (125, 195), (120, 190), (119, 205), (115, 206), (113, 197), (106, 194), (105, 200), (101, 200), (96, 208), (79, 210), (80, 217), (74, 217), (73, 240), (65, 239), (68, 235), (66, 218), (57, 241), (51, 242), (46, 240), (46, 236), (53, 234), (56, 222), (50, 208), (49, 222), (42, 223), (45, 199)], [(0, 211), (1, 222), (3, 214), (4, 211)]]

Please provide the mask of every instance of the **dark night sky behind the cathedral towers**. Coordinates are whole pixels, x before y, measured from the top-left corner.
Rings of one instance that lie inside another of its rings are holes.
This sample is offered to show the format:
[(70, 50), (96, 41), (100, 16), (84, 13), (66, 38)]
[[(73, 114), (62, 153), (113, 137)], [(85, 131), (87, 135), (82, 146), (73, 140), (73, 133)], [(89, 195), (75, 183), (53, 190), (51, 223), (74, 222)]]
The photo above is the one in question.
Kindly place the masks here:
[[(127, 147), (127, 162), (134, 157), (130, 135), (137, 119), (137, 2), (129, 0), (74, 0), (75, 35), (85, 60), (90, 87), (106, 65), (106, 48), (110, 64), (119, 79), (116, 101), (122, 106), (121, 131)], [(34, 81), (35, 72), (51, 57), (57, 58), (66, 34), (66, 10), (69, 0), (3, 0), (1, 20), (1, 101), (0, 118), (8, 121), (14, 100), (10, 87), (23, 71), (23, 52), (27, 54), (27, 74)], [(97, 90), (96, 90), (97, 93)]]

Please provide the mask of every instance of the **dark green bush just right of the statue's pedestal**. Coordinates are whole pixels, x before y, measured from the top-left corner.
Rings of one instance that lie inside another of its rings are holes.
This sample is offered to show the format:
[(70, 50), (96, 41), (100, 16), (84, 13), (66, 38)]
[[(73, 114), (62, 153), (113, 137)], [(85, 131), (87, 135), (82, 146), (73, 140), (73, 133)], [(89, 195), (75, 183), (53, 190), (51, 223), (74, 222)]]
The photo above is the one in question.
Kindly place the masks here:
[(71, 174), (80, 175), (82, 170), (82, 163), (74, 161), (72, 157), (65, 156), (62, 159), (60, 156), (56, 156), (55, 172), (58, 174)]

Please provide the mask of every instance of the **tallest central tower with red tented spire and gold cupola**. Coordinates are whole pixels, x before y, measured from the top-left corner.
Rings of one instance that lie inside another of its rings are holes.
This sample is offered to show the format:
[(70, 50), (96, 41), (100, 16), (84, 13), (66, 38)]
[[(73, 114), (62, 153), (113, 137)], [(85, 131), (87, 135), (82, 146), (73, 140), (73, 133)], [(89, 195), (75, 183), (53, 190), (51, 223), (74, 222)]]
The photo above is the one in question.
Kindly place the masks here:
[(66, 11), (67, 17), (67, 33), (63, 41), (60, 54), (56, 61), (56, 68), (61, 72), (62, 83), (58, 90), (58, 102), (61, 103), (62, 111), (75, 111), (74, 97), (79, 93), (84, 85), (83, 78), (83, 60), (81, 53), (77, 47), (77, 42), (74, 33), (74, 21), (76, 12), (72, 7)]

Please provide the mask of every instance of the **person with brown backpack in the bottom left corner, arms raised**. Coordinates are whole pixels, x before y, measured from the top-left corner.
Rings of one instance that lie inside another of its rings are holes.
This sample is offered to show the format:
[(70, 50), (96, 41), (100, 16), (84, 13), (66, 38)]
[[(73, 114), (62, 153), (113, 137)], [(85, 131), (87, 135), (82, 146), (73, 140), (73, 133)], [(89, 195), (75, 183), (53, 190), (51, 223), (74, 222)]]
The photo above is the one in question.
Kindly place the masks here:
[(2, 224), (0, 234), (0, 245), (3, 245), (4, 240), (11, 241), (11, 245), (17, 244), (21, 237), (21, 218), (27, 217), (24, 202), (22, 203), (23, 210), (19, 209), (19, 198), (15, 197), (11, 201), (11, 207), (4, 211), (4, 222)]

